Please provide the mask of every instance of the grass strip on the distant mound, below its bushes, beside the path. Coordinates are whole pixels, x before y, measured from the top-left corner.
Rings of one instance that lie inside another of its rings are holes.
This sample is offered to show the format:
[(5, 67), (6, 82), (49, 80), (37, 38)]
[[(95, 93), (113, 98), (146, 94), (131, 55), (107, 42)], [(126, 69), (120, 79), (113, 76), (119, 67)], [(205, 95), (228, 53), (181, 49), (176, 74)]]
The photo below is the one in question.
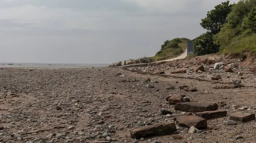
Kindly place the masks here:
[(156, 56), (153, 56), (152, 59), (154, 61), (160, 61), (164, 59), (172, 59), (177, 56), (180, 56), (186, 50), (187, 48), (187, 42), (189, 39), (181, 38), (181, 43), (179, 43), (179, 48), (173, 49), (173, 48), (167, 48), (165, 50), (160, 50)]

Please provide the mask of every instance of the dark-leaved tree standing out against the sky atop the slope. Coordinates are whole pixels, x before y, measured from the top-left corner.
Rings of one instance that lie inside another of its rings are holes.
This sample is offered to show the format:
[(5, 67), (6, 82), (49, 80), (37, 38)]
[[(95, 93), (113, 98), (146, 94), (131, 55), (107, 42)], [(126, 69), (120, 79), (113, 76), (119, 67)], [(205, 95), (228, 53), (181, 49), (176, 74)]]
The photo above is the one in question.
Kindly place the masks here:
[(228, 0), (215, 6), (215, 9), (207, 12), (207, 17), (201, 20), (200, 25), (212, 34), (217, 34), (221, 30), (221, 25), (227, 22), (227, 15), (230, 13), (233, 5)]

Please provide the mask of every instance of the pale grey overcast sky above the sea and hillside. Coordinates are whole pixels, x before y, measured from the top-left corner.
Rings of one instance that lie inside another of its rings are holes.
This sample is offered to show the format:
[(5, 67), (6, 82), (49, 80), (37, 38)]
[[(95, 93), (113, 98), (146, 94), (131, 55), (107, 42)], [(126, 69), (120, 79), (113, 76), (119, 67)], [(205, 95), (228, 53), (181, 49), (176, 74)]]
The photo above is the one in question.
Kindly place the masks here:
[[(224, 0), (0, 0), (0, 62), (107, 64), (194, 39)], [(230, 0), (237, 2), (237, 0)]]

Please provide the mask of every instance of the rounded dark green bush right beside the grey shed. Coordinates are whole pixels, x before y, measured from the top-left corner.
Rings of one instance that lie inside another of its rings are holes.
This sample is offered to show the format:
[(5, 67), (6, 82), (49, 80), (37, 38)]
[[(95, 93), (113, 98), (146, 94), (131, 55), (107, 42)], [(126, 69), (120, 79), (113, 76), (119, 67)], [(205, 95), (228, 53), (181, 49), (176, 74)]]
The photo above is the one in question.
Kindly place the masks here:
[(213, 43), (213, 34), (210, 32), (198, 36), (195, 41), (193, 41), (193, 45), (195, 56), (216, 53), (216, 45)]

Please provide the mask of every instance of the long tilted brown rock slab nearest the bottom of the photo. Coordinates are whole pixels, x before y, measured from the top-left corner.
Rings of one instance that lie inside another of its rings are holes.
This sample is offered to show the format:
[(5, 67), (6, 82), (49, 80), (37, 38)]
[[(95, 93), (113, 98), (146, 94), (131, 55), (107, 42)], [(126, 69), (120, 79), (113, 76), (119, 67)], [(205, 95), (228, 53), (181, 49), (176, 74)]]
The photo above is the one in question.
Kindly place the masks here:
[(131, 138), (150, 137), (150, 136), (162, 136), (170, 135), (176, 132), (176, 125), (174, 122), (156, 123), (150, 126), (144, 126), (138, 129), (130, 131)]

